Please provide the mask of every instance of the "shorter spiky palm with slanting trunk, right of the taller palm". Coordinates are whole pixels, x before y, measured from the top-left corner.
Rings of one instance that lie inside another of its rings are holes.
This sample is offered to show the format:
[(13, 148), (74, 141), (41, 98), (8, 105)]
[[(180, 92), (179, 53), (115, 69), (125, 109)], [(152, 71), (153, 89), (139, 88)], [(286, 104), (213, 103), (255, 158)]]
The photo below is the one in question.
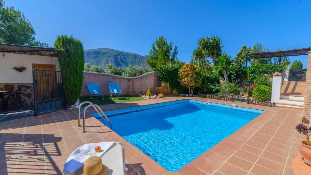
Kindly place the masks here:
[(227, 83), (229, 83), (229, 79), (228, 79), (226, 70), (229, 69), (230, 67), (231, 59), (232, 59), (232, 56), (230, 56), (229, 54), (221, 53), (220, 56), (217, 57), (214, 63), (215, 71), (218, 73), (222, 71)]

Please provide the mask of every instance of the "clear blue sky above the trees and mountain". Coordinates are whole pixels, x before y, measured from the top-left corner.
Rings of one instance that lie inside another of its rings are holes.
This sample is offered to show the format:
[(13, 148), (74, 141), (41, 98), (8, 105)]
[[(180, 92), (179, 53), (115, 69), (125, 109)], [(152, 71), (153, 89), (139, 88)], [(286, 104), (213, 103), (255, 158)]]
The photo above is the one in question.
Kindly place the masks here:
[[(164, 35), (189, 62), (200, 37), (218, 35), (223, 51), (243, 44), (269, 50), (311, 46), (311, 1), (81, 1), (5, 0), (31, 21), (36, 38), (53, 46), (57, 35), (73, 35), (84, 49), (111, 48), (147, 55)], [(306, 67), (307, 56), (299, 59)]]

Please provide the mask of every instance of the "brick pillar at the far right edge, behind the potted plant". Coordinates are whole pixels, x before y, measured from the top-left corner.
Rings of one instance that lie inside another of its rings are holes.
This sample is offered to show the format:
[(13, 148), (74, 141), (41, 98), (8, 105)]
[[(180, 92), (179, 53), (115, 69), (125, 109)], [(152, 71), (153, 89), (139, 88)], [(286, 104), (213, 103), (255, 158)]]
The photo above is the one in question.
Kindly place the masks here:
[(308, 63), (306, 72), (306, 84), (304, 86), (304, 112), (303, 116), (310, 117), (310, 101), (311, 101), (311, 52), (308, 52)]

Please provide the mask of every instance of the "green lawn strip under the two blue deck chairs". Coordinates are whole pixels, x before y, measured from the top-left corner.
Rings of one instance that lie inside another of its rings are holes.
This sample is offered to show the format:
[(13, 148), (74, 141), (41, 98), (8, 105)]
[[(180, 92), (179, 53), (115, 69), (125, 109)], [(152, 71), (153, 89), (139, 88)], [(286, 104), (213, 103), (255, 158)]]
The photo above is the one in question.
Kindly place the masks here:
[[(136, 101), (146, 100), (142, 97), (137, 97), (133, 95), (123, 95), (123, 99), (121, 98), (121, 96), (120, 97), (116, 96), (114, 97), (114, 99), (112, 99), (109, 96), (104, 96), (104, 98), (105, 98), (104, 100), (93, 101), (92, 99), (90, 99), (90, 97), (80, 97), (80, 103), (89, 101), (97, 105), (108, 105), (108, 104), (114, 104), (114, 103), (136, 102)], [(98, 100), (98, 99), (101, 99), (101, 97), (95, 100)], [(87, 105), (88, 104), (84, 104), (82, 107), (85, 107)]]

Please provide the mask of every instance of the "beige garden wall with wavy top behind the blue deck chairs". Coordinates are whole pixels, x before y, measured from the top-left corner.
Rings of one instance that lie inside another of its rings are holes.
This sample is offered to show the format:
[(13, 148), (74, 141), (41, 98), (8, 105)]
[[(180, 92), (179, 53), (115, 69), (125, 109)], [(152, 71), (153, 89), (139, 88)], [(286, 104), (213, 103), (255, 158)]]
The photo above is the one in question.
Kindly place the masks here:
[(108, 83), (119, 83), (125, 95), (145, 94), (147, 89), (156, 93), (156, 72), (145, 73), (137, 77), (121, 77), (108, 73), (84, 72), (81, 97), (90, 96), (86, 83), (98, 83), (104, 95), (110, 95)]

